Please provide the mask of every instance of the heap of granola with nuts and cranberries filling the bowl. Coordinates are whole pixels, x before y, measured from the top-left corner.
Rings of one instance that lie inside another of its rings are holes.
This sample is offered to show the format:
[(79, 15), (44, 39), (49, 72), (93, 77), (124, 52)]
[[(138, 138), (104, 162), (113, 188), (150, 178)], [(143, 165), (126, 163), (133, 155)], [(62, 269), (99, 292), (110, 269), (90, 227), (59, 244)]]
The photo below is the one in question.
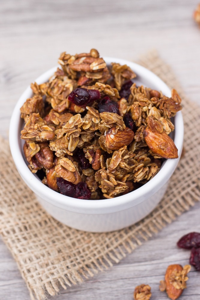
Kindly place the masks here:
[(126, 194), (145, 184), (178, 152), (169, 133), (181, 110), (175, 89), (136, 86), (127, 65), (106, 65), (96, 49), (61, 53), (47, 82), (31, 84), (21, 107), (21, 138), (31, 172), (79, 199)]

